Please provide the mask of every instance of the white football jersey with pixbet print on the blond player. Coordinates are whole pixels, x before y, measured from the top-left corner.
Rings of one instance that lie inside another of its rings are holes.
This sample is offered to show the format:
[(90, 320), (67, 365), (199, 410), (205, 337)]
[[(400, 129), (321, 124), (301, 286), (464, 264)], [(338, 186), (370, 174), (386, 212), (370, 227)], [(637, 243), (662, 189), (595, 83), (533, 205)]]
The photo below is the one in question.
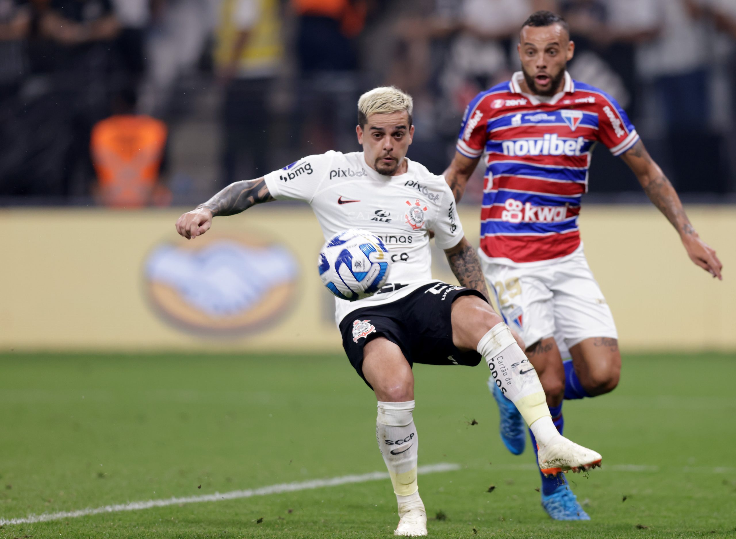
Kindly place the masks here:
[[(265, 176), (275, 199), (311, 205), (325, 240), (352, 228), (381, 238), (392, 261), (389, 283), (408, 285), (357, 301), (336, 298), (338, 324), (355, 309), (390, 303), (436, 282), (431, 274), (430, 230), (440, 249), (456, 246), (464, 236), (445, 178), (414, 161), (406, 163), (406, 174), (383, 176), (366, 164), (362, 151), (328, 151)], [(316, 278), (316, 266), (314, 272)]]

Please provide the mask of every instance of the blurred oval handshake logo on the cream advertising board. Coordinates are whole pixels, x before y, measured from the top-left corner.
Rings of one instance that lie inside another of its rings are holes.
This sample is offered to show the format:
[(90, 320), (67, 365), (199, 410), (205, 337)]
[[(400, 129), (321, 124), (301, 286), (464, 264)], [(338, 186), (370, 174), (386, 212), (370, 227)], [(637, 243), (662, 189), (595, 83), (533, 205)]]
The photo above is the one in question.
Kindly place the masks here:
[(197, 240), (146, 257), (143, 289), (167, 324), (185, 335), (252, 335), (293, 309), (299, 264), (283, 245), (211, 230)]

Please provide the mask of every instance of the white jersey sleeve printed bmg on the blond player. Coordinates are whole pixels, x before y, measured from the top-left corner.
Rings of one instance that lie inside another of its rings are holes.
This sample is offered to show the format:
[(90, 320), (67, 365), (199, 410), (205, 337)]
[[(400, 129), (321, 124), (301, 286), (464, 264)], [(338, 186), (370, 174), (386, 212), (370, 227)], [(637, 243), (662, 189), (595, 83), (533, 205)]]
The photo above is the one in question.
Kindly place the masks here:
[(308, 155), (291, 165), (269, 172), (263, 179), (269, 193), (276, 200), (303, 200), (311, 202), (319, 185), (330, 171), (334, 151)]

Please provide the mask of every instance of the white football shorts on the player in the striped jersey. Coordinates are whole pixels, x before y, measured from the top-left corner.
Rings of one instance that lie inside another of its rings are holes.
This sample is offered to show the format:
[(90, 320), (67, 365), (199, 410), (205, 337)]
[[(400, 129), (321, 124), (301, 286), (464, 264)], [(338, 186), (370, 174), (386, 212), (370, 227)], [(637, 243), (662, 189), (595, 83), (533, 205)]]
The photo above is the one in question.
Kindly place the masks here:
[(481, 267), (506, 320), (526, 346), (554, 337), (562, 358), (592, 337), (618, 339), (611, 309), (588, 266), (582, 246), (545, 265), (506, 265), (482, 252)]

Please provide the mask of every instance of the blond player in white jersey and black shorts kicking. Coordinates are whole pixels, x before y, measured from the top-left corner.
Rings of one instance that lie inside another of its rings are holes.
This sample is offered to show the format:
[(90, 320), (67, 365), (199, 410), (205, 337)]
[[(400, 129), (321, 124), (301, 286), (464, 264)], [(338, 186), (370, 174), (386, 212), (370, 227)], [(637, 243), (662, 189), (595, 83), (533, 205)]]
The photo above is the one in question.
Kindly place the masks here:
[[(536, 371), (486, 300), (478, 256), (464, 237), (445, 179), (406, 158), (414, 136), (412, 106), (411, 97), (396, 88), (364, 93), (356, 127), (363, 151), (311, 155), (262, 178), (235, 182), (176, 224), (180, 235), (194, 239), (216, 216), (272, 200), (301, 200), (311, 205), (325, 238), (360, 227), (386, 244), (392, 282), (366, 299), (336, 299), (336, 321), (350, 363), (378, 399), (376, 437), (400, 517), (395, 535), (427, 535), (417, 486), (413, 363), (478, 365), (483, 355), (499, 390), (537, 437), (542, 470), (558, 474), (601, 462), (601, 455), (555, 429)], [(432, 279), (429, 231), (462, 286)]]

